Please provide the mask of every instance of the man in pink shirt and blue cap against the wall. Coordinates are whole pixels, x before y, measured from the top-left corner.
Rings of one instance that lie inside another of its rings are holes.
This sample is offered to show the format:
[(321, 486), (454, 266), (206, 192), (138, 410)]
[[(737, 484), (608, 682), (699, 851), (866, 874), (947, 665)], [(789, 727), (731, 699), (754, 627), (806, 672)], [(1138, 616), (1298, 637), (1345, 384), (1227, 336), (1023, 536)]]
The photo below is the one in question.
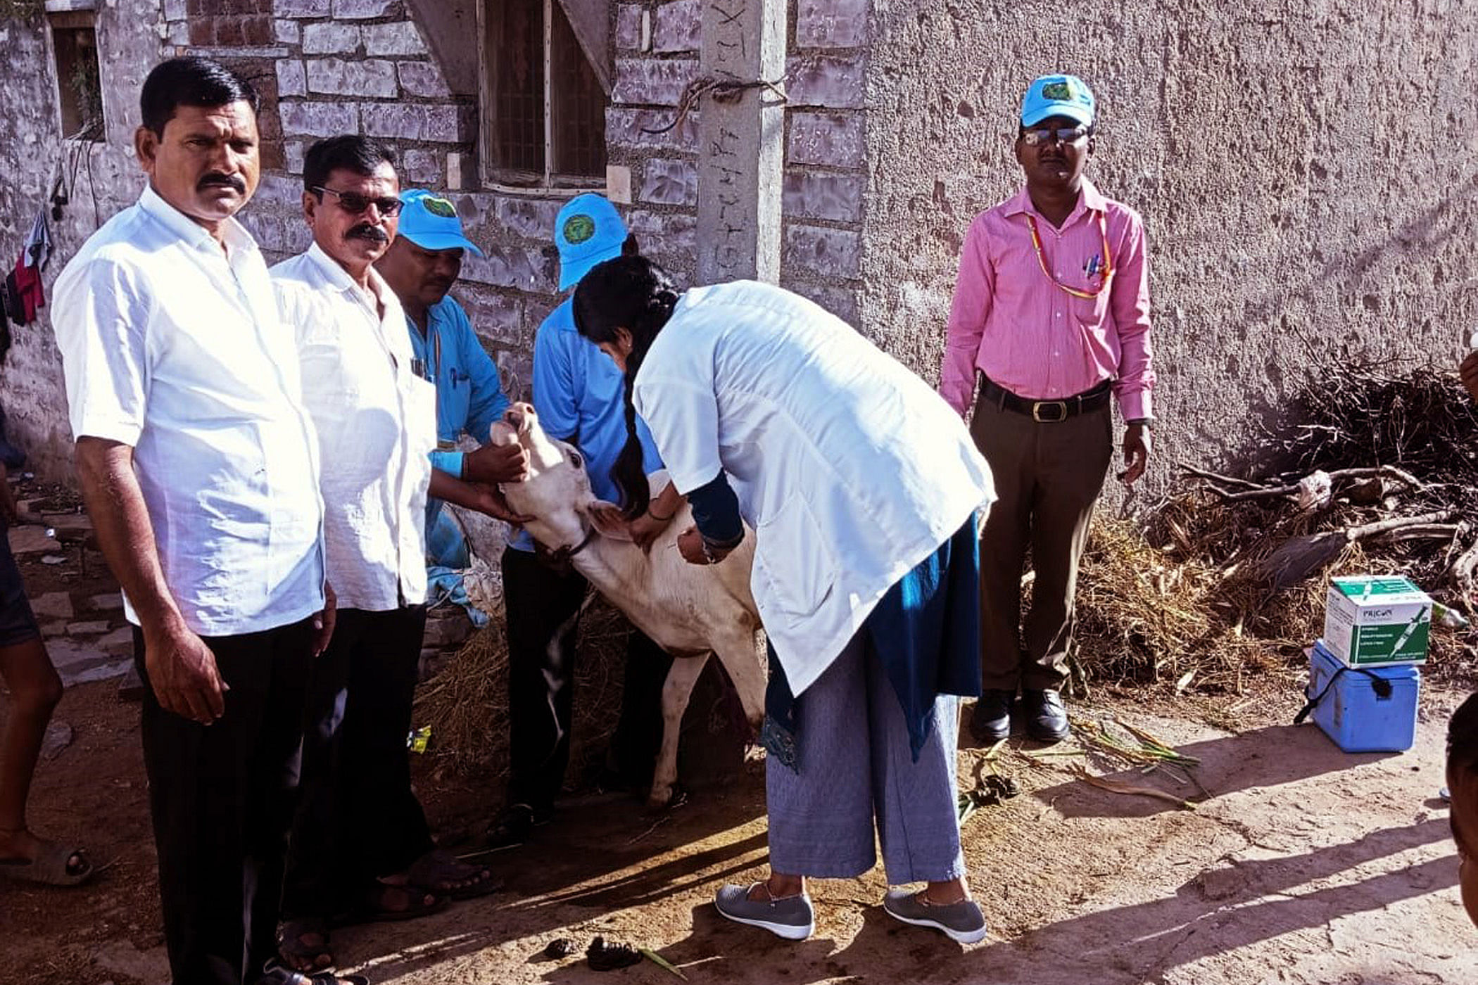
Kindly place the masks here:
[[(990, 462), (999, 499), (980, 538), (984, 691), (971, 731), (1011, 732), (1021, 688), (1032, 738), (1067, 735), (1058, 693), (1073, 635), (1077, 560), (1113, 458), (1111, 399), (1132, 484), (1150, 458), (1150, 276), (1144, 223), (1083, 177), (1094, 95), (1045, 75), (1021, 103), (1015, 157), (1026, 188), (975, 217), (949, 316), (940, 394)], [(1023, 625), (1021, 569), (1036, 580)]]

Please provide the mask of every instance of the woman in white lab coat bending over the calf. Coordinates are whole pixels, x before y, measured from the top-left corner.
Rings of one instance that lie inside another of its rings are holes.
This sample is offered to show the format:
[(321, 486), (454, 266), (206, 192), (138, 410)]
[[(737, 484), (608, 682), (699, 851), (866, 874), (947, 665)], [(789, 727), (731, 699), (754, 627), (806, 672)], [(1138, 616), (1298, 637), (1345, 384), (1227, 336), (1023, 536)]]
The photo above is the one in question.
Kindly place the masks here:
[[(804, 939), (806, 877), (875, 864), (885, 910), (984, 936), (959, 846), (959, 696), (978, 694), (977, 524), (990, 473), (959, 415), (848, 325), (789, 291), (738, 282), (678, 295), (650, 260), (594, 267), (575, 323), (627, 377), (696, 526), (678, 549), (721, 564), (754, 529), (770, 641), (761, 741), (770, 876), (718, 911)], [(613, 476), (640, 512), (640, 449)]]

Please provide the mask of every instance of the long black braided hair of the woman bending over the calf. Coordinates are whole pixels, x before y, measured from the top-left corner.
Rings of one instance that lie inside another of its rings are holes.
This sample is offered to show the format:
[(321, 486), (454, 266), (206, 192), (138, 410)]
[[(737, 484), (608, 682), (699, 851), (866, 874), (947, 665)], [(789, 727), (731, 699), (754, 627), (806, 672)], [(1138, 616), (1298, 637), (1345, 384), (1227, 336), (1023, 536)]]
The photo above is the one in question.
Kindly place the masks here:
[(637, 411), (631, 403), (631, 385), (658, 332), (672, 318), (675, 304), (677, 289), (672, 286), (672, 278), (641, 255), (624, 255), (597, 263), (579, 279), (572, 301), (575, 328), (590, 341), (613, 343), (619, 328), (631, 332), (631, 354), (627, 356), (627, 445), (621, 449), (616, 464), (610, 467), (610, 480), (621, 490), (622, 512), (628, 518), (646, 512), (652, 495), (641, 464), (641, 442), (637, 439)]

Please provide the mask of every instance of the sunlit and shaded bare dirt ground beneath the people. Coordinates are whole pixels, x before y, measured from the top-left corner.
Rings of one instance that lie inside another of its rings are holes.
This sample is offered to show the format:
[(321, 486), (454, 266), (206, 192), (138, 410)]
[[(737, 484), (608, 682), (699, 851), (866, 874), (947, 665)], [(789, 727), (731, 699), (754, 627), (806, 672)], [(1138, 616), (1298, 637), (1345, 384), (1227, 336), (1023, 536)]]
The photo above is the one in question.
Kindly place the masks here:
[[(1147, 727), (1202, 759), (1210, 797), (1194, 811), (1086, 786), (1070, 774), (1083, 759), (1012, 740), (996, 763), (1024, 793), (965, 826), (992, 927), (970, 948), (888, 919), (881, 871), (814, 883), (817, 930), (803, 944), (723, 921), (714, 889), (763, 871), (755, 756), (726, 789), (662, 815), (625, 797), (572, 797), (535, 843), (495, 857), (505, 892), (420, 921), (343, 929), (336, 941), (346, 966), (405, 985), (675, 981), (652, 963), (597, 973), (578, 955), (542, 958), (553, 938), (584, 950), (596, 933), (661, 953), (690, 982), (1466, 985), (1478, 981), (1478, 932), (1457, 899), (1435, 799), (1444, 724), (1460, 697), (1423, 696), (1411, 752), (1348, 756), (1312, 725), (1287, 725), (1298, 696), (1277, 688), (1250, 709), (1100, 696), (1094, 715)], [(1242, 716), (1236, 734), (1228, 709)], [(117, 700), (115, 682), (80, 684), (58, 719), (75, 740), (43, 763), (33, 826), (86, 843), (108, 868), (83, 889), (0, 883), (0, 982), (157, 985), (167, 967), (137, 706)], [(962, 749), (961, 775), (983, 755)], [(421, 765), (439, 830), (494, 806), (494, 784)], [(1125, 777), (1196, 796), (1165, 777)]]

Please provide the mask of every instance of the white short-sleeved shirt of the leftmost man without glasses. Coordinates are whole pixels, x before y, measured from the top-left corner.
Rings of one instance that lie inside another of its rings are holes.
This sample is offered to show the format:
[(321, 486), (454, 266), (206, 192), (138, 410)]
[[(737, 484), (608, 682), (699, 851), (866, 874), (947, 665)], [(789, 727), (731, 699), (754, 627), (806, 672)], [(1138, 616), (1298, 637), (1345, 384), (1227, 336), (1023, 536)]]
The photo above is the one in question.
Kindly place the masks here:
[(133, 447), (164, 580), (202, 636), (324, 607), (293, 332), (251, 235), (229, 220), (225, 245), (146, 188), (67, 264), (52, 313), (72, 434)]

